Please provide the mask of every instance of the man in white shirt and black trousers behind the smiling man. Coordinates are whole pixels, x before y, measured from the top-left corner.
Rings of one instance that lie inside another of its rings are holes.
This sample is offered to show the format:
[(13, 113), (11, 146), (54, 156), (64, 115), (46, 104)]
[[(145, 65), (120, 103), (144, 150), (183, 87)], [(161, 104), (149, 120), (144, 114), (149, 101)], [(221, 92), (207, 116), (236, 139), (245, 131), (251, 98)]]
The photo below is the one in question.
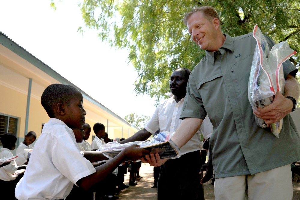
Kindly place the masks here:
[[(186, 68), (176, 69), (170, 77), (171, 92), (166, 93), (170, 98), (157, 106), (154, 114), (144, 125), (144, 128), (132, 137), (121, 141), (142, 141), (148, 139), (158, 129), (160, 131), (175, 131), (182, 120), (180, 114), (186, 94), (187, 81), (190, 70)], [(204, 199), (202, 186), (200, 185), (199, 171), (201, 168), (201, 138), (202, 134), (212, 132), (209, 119), (205, 119), (198, 134), (195, 134), (182, 148), (181, 158), (169, 159), (161, 166), (158, 178), (158, 200), (161, 199)]]

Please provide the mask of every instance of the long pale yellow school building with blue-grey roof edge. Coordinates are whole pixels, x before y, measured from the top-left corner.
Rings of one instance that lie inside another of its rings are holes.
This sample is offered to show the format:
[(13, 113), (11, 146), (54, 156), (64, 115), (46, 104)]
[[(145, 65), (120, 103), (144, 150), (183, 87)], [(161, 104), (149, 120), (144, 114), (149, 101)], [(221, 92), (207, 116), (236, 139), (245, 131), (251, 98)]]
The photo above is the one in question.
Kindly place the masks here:
[[(140, 130), (0, 32), (0, 137), (7, 132), (14, 133), (18, 146), (29, 131), (41, 135), (43, 125), (49, 120), (41, 105), (41, 95), (53, 83), (72, 85), (82, 93), (86, 123), (92, 129), (97, 122), (104, 124), (111, 139), (128, 138)], [(92, 136), (95, 136), (93, 130), (90, 143)]]

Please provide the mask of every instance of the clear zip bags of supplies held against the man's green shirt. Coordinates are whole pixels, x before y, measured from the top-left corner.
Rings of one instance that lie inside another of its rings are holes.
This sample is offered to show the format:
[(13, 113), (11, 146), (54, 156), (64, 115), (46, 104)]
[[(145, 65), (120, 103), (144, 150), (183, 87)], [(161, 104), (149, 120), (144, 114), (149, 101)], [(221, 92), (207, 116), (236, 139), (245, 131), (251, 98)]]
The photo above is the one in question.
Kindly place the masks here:
[[(253, 37), (257, 45), (254, 51), (248, 84), (248, 98), (251, 106), (263, 108), (270, 105), (277, 92), (284, 94), (284, 75), (282, 63), (295, 55), (287, 42), (280, 42), (269, 51), (268, 43), (257, 25), (254, 26)], [(267, 128), (263, 119), (256, 118), (256, 123)], [(272, 133), (278, 138), (282, 128), (282, 119), (270, 125)]]

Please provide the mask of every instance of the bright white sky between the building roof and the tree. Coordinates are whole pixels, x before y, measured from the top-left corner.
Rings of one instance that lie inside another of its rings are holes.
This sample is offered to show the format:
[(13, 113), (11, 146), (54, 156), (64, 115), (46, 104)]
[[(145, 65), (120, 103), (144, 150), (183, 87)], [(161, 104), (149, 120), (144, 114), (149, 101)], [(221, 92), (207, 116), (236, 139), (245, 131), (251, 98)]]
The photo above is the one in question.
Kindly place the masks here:
[[(126, 50), (111, 49), (85, 28), (77, 1), (0, 0), (0, 31), (120, 117), (152, 116), (154, 99), (136, 97), (137, 72)], [(87, 113), (88, 115), (88, 113)]]

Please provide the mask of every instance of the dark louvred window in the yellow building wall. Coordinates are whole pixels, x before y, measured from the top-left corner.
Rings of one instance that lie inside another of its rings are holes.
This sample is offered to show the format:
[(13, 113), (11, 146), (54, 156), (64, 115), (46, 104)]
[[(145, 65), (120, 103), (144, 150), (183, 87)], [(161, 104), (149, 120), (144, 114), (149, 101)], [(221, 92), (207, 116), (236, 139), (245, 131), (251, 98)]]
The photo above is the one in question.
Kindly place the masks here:
[[(17, 135), (18, 118), (0, 114), (0, 138), (5, 133), (13, 133)], [(2, 143), (0, 141), (0, 146)]]

